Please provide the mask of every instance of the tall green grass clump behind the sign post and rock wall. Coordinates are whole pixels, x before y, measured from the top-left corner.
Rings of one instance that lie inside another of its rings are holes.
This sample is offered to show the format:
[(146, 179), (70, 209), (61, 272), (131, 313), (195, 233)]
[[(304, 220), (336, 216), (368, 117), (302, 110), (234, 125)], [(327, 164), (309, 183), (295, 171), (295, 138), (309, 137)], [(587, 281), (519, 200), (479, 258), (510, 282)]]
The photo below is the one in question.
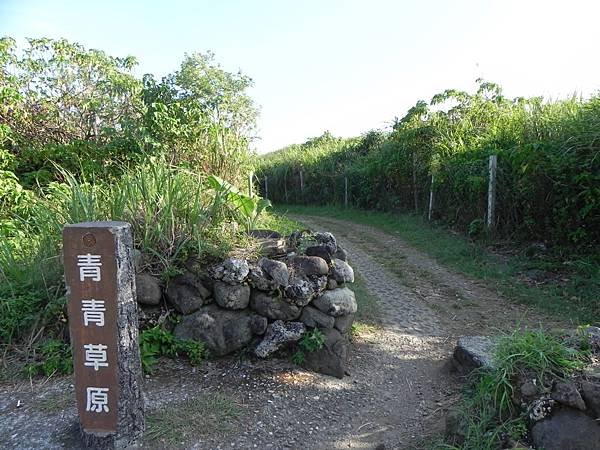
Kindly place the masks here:
[(145, 268), (163, 276), (178, 273), (190, 255), (222, 256), (243, 239), (226, 193), (211, 188), (206, 176), (164, 160), (149, 159), (112, 184), (60, 172), (64, 181), (50, 183), (26, 215), (14, 217), (17, 232), (0, 243), (0, 338), (5, 345), (15, 338), (23, 343), (25, 336), (31, 344), (44, 328), (64, 328), (61, 233), (67, 223), (129, 222)]

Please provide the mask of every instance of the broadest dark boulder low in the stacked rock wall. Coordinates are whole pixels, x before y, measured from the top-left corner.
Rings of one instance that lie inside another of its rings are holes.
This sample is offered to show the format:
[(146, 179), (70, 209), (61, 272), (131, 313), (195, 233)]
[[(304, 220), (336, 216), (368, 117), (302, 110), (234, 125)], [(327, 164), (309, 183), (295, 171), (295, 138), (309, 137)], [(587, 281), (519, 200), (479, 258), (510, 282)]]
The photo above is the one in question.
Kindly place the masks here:
[(173, 334), (180, 339), (200, 340), (212, 354), (223, 356), (264, 333), (266, 322), (249, 310), (229, 311), (213, 304), (184, 316)]

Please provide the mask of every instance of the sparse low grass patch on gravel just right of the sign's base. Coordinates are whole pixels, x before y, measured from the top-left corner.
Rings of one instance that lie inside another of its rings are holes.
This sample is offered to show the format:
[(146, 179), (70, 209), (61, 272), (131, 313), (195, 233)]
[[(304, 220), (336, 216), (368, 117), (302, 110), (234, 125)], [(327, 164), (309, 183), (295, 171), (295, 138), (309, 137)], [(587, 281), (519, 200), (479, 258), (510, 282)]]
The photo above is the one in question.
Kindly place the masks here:
[(224, 433), (233, 428), (242, 412), (240, 405), (228, 395), (201, 394), (161, 406), (148, 414), (144, 440), (174, 446), (192, 437)]

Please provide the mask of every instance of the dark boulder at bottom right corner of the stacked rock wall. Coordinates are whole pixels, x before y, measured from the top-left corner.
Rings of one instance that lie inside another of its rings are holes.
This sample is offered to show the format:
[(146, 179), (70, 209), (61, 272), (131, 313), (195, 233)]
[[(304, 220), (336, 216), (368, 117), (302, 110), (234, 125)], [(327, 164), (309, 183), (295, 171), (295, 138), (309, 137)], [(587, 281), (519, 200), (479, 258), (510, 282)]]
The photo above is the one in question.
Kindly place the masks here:
[(348, 339), (335, 328), (321, 331), (325, 335), (323, 348), (306, 352), (302, 366), (314, 372), (343, 378), (348, 363)]

